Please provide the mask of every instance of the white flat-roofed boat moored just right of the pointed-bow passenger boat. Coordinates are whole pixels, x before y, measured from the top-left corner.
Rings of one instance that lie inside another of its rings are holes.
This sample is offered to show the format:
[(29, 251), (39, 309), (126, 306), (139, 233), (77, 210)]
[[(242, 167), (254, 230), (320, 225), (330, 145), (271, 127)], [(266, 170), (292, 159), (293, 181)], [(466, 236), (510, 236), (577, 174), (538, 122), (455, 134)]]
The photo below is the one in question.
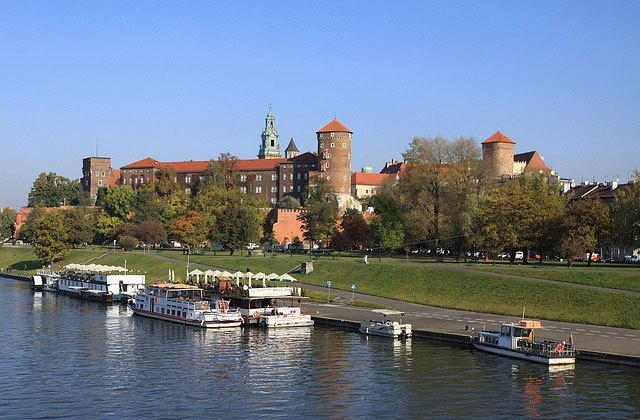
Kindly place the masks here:
[[(211, 300), (225, 299), (238, 308), (246, 325), (265, 328), (308, 327), (314, 324), (311, 313), (302, 308), (308, 299), (294, 293), (293, 287), (234, 286), (230, 278), (221, 277)], [(299, 290), (299, 289), (298, 289)]]

